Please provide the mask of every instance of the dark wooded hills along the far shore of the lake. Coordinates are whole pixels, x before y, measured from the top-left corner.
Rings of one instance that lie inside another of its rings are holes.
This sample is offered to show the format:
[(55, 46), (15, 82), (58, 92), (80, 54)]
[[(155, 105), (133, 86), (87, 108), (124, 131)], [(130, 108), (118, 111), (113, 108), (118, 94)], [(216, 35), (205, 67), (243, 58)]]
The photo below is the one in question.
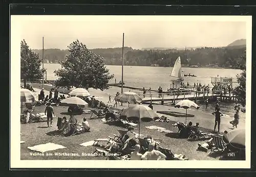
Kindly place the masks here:
[[(197, 65), (209, 68), (233, 68), (239, 69), (243, 60), (245, 46), (231, 46), (222, 48), (196, 48), (189, 50), (166, 49), (166, 50), (134, 50), (124, 47), (124, 65), (172, 67), (178, 56), (181, 57), (183, 67)], [(92, 51), (104, 58), (104, 64), (121, 65), (122, 48), (92, 49)], [(33, 50), (42, 57), (42, 50)], [(59, 63), (66, 60), (68, 50), (45, 49), (45, 61)]]

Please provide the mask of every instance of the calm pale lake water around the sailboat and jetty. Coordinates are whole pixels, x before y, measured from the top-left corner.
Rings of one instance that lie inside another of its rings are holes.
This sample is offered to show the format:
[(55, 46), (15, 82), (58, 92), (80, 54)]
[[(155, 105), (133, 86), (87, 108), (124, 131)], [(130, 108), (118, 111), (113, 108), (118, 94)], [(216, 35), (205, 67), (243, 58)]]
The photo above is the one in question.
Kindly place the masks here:
[[(46, 63), (44, 67), (47, 69), (47, 80), (55, 80), (57, 77), (54, 75), (54, 71), (61, 68), (60, 64), (55, 63)], [(111, 74), (114, 74), (114, 78), (110, 83), (119, 82), (121, 80), (122, 67), (119, 65), (106, 65), (106, 68), (110, 70)], [(241, 70), (234, 69), (213, 69), (213, 68), (182, 68), (184, 74), (196, 75), (197, 77), (184, 77), (185, 84), (201, 83), (210, 85), (211, 77), (232, 77), (233, 80), (237, 80), (237, 74), (241, 73)], [(159, 86), (163, 88), (163, 91), (166, 91), (170, 86), (170, 83), (175, 81), (179, 84), (179, 81), (176, 81), (176, 78), (170, 77), (170, 72), (172, 68), (170, 67), (139, 67), (139, 66), (124, 66), (123, 67), (123, 80), (125, 85), (135, 86), (135, 87), (145, 87), (145, 89), (155, 89), (157, 90)], [(238, 83), (233, 83), (233, 87), (237, 86)], [(123, 92), (138, 92), (131, 89), (123, 89)], [(104, 91), (106, 94), (114, 95), (116, 92), (121, 92), (119, 87), (110, 87), (110, 89)], [(199, 103), (200, 105), (200, 103)], [(234, 114), (234, 103), (221, 103), (221, 110), (226, 116), (233, 117)], [(203, 106), (203, 105), (202, 105)], [(204, 106), (203, 106), (204, 107)], [(214, 111), (214, 106), (209, 105), (208, 111)], [(241, 113), (241, 118), (245, 118), (245, 114)]]

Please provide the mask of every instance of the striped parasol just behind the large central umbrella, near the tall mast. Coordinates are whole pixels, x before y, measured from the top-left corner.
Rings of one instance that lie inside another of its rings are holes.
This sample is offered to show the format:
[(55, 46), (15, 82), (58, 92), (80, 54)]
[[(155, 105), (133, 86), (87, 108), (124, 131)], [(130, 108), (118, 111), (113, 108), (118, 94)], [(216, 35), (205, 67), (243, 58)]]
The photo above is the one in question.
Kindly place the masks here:
[(137, 104), (142, 101), (142, 99), (134, 92), (124, 92), (116, 97), (117, 101), (122, 103)]

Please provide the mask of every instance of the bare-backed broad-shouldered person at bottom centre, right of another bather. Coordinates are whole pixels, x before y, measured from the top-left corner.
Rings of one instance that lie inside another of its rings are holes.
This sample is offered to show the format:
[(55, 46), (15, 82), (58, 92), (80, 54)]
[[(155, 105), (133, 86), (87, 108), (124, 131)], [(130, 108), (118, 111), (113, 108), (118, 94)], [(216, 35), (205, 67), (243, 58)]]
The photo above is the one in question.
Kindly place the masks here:
[(165, 160), (166, 156), (159, 150), (154, 149), (154, 144), (148, 145), (148, 151), (146, 151), (142, 156), (142, 160)]

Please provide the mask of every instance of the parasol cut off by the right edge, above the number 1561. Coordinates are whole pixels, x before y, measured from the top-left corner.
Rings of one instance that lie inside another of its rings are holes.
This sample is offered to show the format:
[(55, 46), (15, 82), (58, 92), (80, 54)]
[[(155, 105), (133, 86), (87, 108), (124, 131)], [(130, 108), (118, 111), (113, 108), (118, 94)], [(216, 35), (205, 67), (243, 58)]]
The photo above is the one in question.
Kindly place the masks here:
[(225, 138), (231, 146), (245, 149), (245, 129), (232, 130), (225, 135)]

